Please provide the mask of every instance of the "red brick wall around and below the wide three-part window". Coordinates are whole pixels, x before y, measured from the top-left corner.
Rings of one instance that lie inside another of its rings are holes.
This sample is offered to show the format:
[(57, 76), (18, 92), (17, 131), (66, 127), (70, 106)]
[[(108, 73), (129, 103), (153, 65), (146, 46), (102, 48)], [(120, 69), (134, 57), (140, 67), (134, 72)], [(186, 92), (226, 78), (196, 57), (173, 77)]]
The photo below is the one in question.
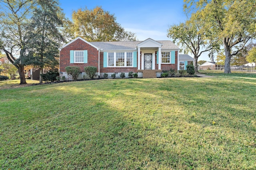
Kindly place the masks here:
[[(137, 53), (138, 55), (138, 53)], [(100, 52), (100, 72), (137, 72), (138, 70), (138, 57), (137, 57), (137, 67), (103, 67), (103, 52)]]

